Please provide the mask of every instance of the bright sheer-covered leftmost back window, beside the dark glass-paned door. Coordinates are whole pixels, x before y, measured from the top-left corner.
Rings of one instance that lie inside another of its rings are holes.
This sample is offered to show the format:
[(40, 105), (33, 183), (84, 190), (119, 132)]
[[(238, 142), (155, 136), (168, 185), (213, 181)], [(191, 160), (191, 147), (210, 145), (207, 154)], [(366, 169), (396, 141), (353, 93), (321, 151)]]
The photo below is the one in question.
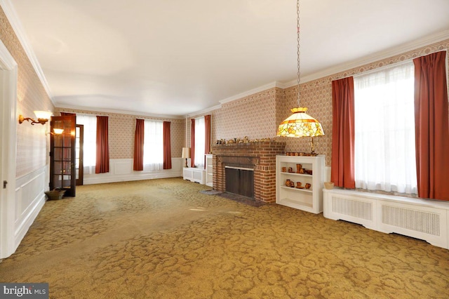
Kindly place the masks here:
[(97, 117), (91, 114), (76, 114), (76, 124), (83, 125), (83, 171), (95, 173), (97, 157)]

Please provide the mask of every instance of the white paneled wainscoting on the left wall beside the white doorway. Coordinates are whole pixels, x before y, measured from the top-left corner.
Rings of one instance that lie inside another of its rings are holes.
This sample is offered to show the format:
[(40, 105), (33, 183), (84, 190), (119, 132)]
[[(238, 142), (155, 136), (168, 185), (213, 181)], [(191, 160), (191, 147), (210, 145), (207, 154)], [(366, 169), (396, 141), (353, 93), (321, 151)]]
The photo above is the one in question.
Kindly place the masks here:
[(15, 180), (14, 239), (17, 248), (45, 204), (48, 190), (48, 166)]

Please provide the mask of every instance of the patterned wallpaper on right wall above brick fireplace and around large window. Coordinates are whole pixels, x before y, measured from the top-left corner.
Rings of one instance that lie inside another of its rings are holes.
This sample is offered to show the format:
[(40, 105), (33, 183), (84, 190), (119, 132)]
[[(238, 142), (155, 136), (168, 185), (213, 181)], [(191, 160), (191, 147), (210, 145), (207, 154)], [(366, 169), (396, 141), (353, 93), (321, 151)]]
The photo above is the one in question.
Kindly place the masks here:
[[(308, 114), (321, 122), (326, 134), (314, 138), (315, 152), (326, 155), (326, 166), (330, 166), (332, 154), (332, 81), (436, 51), (449, 51), (449, 39), (301, 84), (300, 105), (309, 108)], [(447, 69), (449, 70), (449, 63)], [(271, 88), (225, 103), (220, 109), (210, 112), (212, 114), (212, 142), (217, 139), (239, 138), (246, 135), (250, 139), (273, 137), (279, 123), (290, 116), (290, 109), (297, 107), (296, 93), (297, 86), (286, 89)], [(188, 130), (189, 127), (190, 123)], [(310, 152), (311, 150), (310, 138), (276, 139), (286, 140), (287, 152)], [(187, 140), (189, 143), (190, 139)]]

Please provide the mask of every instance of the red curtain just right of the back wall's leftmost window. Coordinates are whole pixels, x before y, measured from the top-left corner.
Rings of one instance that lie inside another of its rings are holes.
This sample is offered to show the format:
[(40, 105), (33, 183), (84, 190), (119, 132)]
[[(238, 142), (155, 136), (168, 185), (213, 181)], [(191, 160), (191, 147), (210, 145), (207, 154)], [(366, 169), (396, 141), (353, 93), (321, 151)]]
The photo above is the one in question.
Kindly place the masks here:
[(97, 117), (97, 161), (95, 173), (109, 172), (109, 117)]

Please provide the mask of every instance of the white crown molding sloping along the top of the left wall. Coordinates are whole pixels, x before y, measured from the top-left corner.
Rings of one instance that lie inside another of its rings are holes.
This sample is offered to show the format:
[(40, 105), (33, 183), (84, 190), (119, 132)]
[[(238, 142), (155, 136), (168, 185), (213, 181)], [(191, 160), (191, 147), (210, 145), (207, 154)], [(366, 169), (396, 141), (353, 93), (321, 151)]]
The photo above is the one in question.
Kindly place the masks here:
[(20, 22), (17, 13), (15, 13), (13, 4), (11, 4), (10, 0), (0, 0), (0, 6), (3, 9), (6, 18), (8, 18), (8, 22), (11, 24), (11, 27), (13, 27), (15, 35), (18, 37), (22, 48), (25, 50), (25, 53), (27, 54), (27, 57), (31, 62), (34, 71), (37, 74), (37, 77), (39, 77), (39, 80), (41, 81), (41, 84), (48, 95), (48, 98), (50, 98), (54, 105), (55, 102), (53, 101), (53, 96), (51, 95), (50, 86), (48, 86), (48, 82), (45, 75), (43, 74), (41, 65), (36, 58), (36, 54), (34, 54), (33, 48), (29, 43), (29, 39), (27, 38), (25, 31), (23, 30), (22, 23)]

